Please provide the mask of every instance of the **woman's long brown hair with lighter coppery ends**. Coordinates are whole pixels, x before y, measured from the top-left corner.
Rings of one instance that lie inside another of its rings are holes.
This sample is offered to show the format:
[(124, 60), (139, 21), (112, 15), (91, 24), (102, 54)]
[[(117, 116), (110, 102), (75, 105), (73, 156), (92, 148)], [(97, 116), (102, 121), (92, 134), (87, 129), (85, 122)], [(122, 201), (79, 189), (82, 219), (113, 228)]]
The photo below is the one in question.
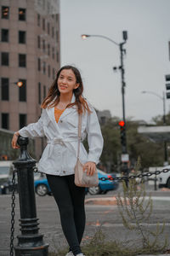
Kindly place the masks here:
[[(59, 74), (61, 73), (62, 70), (64, 69), (71, 69), (72, 72), (75, 74), (76, 79), (77, 79), (77, 84), (79, 84), (79, 86), (77, 87), (77, 89), (73, 90), (73, 93), (76, 97), (76, 101), (74, 103), (69, 103), (66, 108), (71, 108), (72, 106), (76, 105), (77, 106), (77, 112), (78, 113), (85, 113), (86, 110), (88, 111), (88, 113), (91, 113), (91, 110), (88, 108), (88, 102), (85, 100), (85, 98), (82, 96), (82, 92), (83, 92), (83, 84), (82, 84), (82, 77), (81, 74), (79, 72), (79, 70), (77, 69), (77, 67), (72, 67), (72, 66), (64, 66), (61, 67), (57, 73), (56, 79), (54, 79), (53, 84), (51, 85), (51, 87), (48, 90), (48, 96), (43, 100), (41, 108), (53, 108), (54, 106), (56, 106), (59, 103), (59, 89), (58, 89), (58, 79), (59, 79)], [(56, 98), (56, 100), (54, 100)]]

